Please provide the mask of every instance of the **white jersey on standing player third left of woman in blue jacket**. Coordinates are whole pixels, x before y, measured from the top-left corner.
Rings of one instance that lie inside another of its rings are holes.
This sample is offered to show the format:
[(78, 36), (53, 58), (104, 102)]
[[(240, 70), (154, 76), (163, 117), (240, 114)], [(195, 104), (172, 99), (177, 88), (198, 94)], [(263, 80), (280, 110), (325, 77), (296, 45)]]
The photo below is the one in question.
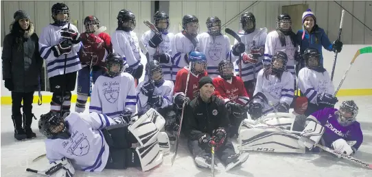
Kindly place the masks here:
[(207, 57), (207, 72), (211, 79), (218, 77), (218, 64), (226, 59), (231, 52), (230, 39), (226, 35), (211, 36), (209, 33), (201, 33), (196, 38), (200, 43), (199, 51)]

